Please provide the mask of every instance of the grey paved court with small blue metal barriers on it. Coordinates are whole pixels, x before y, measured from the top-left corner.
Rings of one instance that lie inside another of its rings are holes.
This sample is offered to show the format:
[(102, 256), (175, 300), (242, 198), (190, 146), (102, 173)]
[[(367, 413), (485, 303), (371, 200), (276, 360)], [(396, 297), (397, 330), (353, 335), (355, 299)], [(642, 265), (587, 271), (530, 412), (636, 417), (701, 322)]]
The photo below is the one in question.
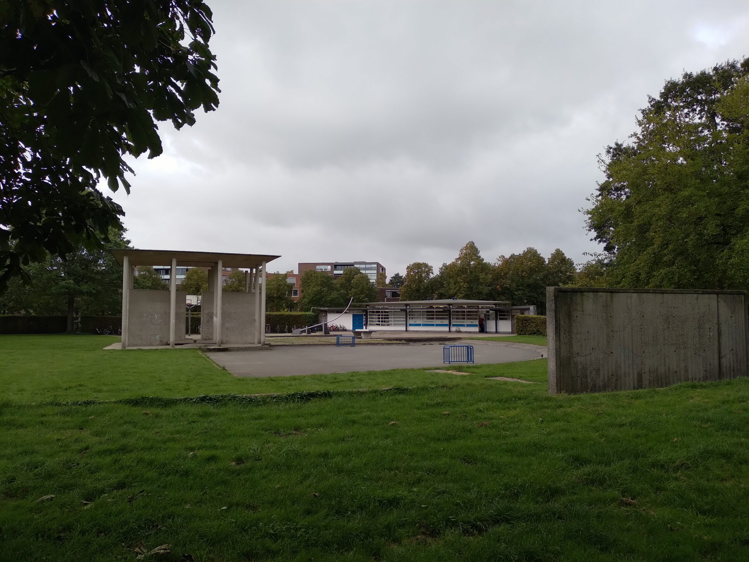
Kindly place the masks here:
[[(537, 359), (546, 348), (538, 345), (499, 342), (470, 342), (476, 364), (509, 363)], [(221, 351), (208, 357), (237, 377), (282, 377), (318, 375), (332, 372), (385, 371), (442, 367), (440, 343), (409, 345), (287, 345), (271, 350)], [(461, 366), (465, 363), (453, 363)]]

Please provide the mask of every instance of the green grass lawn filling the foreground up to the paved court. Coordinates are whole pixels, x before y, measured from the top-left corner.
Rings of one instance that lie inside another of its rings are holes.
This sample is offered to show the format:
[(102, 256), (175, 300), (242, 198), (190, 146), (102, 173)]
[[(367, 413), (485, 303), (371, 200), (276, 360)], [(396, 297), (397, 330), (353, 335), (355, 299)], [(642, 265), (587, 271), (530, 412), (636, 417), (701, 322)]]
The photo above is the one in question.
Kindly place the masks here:
[(414, 387), (307, 402), (42, 404), (88, 397), (122, 360), (107, 375), (128, 383), (100, 398), (262, 382), (63, 337), (0, 337), (0, 560), (135, 560), (139, 543), (172, 561), (749, 559), (748, 379), (549, 396), (534, 360), (294, 377)]

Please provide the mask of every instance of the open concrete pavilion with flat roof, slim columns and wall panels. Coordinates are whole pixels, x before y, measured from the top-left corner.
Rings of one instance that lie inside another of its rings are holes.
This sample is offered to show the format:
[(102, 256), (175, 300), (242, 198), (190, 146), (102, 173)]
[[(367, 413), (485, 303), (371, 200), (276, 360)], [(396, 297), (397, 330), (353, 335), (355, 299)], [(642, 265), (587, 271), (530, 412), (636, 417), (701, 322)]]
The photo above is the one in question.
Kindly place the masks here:
[[(178, 265), (209, 268), (208, 290), (201, 295), (201, 341), (222, 344), (265, 342), (267, 262), (280, 256), (180, 250), (112, 250), (122, 265), (122, 348), (148, 345), (175, 347), (185, 338), (187, 293), (177, 290)], [(139, 265), (172, 265), (169, 291), (133, 288)], [(244, 291), (222, 291), (223, 268), (249, 269)], [(179, 312), (178, 312), (179, 311)], [(166, 331), (169, 330), (168, 339)]]

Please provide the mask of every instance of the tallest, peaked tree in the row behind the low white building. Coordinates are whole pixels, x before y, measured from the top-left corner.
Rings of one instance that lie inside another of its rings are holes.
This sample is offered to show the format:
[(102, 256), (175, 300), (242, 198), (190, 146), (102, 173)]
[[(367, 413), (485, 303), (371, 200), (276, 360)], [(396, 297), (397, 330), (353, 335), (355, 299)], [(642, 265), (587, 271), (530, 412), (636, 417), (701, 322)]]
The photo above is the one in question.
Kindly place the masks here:
[(440, 293), (447, 298), (486, 300), (492, 293), (492, 267), (473, 241), (461, 248), (453, 262), (440, 269)]

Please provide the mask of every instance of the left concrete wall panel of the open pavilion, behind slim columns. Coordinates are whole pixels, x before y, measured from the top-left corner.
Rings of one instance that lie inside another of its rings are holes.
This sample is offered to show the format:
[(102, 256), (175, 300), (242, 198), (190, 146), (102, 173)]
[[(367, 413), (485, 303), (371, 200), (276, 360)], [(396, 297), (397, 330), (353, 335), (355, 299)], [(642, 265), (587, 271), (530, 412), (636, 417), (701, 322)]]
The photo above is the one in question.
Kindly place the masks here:
[[(128, 306), (127, 346), (169, 343), (169, 291), (131, 288)], [(177, 291), (175, 339), (184, 339), (187, 293)]]

